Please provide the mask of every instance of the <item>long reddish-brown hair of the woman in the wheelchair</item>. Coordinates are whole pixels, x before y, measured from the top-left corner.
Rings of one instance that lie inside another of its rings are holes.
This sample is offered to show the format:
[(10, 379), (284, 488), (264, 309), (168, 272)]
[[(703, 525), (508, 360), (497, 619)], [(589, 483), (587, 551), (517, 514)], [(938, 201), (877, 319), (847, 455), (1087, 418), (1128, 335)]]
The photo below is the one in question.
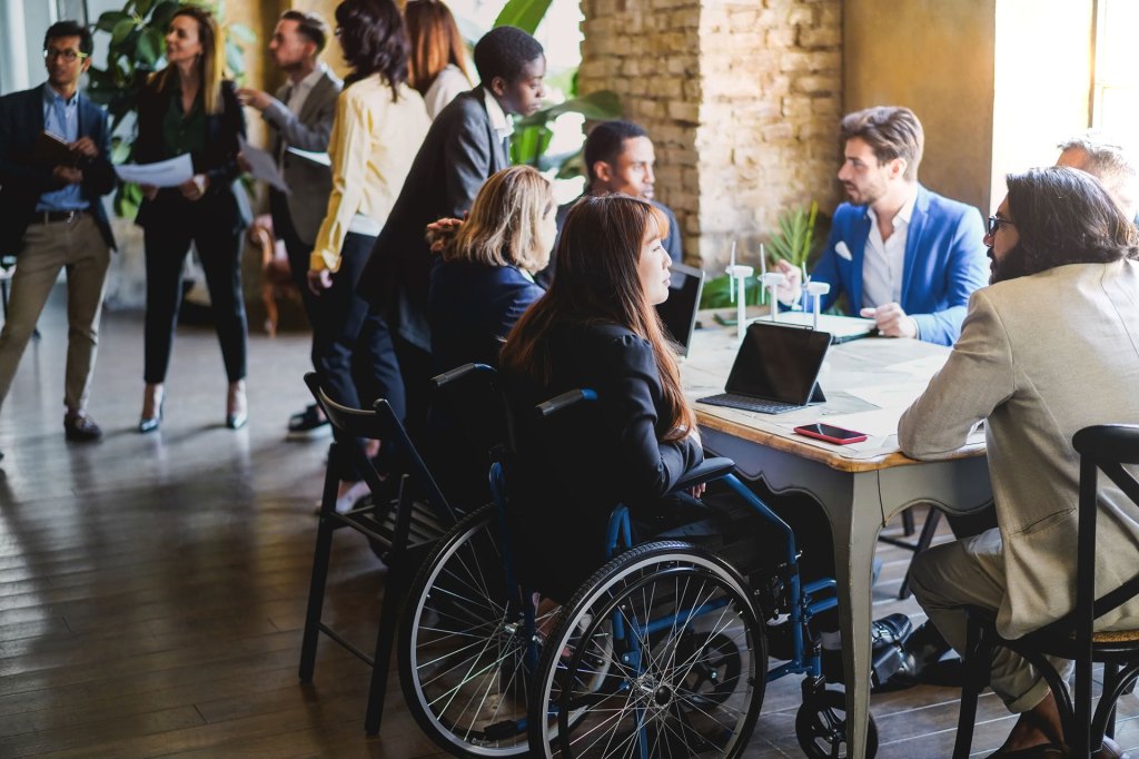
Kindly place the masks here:
[(556, 325), (609, 323), (625, 327), (653, 346), (670, 422), (663, 440), (672, 441), (696, 429), (696, 415), (685, 402), (675, 354), (656, 309), (645, 296), (637, 269), (650, 231), (666, 237), (669, 220), (647, 201), (621, 193), (587, 195), (577, 201), (562, 228), (554, 283), (510, 330), (500, 360), (508, 369), (549, 384), (552, 361), (548, 337)]

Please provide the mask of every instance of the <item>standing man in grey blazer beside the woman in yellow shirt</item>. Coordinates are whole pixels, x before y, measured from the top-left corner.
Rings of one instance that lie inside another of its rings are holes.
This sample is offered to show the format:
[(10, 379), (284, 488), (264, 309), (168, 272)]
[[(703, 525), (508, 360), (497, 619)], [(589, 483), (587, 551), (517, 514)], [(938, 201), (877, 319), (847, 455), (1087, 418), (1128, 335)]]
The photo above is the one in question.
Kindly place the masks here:
[[(238, 91), (241, 101), (261, 112), (277, 132), (273, 155), (289, 194), (269, 190), (269, 207), (273, 217), (273, 234), (285, 242), (293, 280), (305, 310), (311, 313), (312, 293), (305, 280), (309, 254), (328, 207), (333, 189), (331, 169), (316, 161), (289, 153), (297, 148), (310, 153), (328, 150), (328, 136), (336, 116), (336, 97), (343, 83), (318, 60), (328, 40), (328, 25), (314, 13), (286, 10), (277, 22), (269, 52), (277, 67), (288, 75), (288, 83), (277, 90), (277, 97), (261, 90)], [(326, 429), (328, 419), (316, 406), (289, 417), (289, 438), (304, 438)]]

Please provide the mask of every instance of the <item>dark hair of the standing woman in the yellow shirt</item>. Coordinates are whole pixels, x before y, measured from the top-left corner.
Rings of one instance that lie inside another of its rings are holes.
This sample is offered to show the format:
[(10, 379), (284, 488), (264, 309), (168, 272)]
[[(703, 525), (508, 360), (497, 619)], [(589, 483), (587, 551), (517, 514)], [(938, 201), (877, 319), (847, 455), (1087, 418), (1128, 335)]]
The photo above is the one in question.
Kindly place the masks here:
[(336, 6), (337, 33), (352, 73), (345, 85), (377, 75), (399, 99), (408, 81), (408, 35), (392, 0), (344, 0)]

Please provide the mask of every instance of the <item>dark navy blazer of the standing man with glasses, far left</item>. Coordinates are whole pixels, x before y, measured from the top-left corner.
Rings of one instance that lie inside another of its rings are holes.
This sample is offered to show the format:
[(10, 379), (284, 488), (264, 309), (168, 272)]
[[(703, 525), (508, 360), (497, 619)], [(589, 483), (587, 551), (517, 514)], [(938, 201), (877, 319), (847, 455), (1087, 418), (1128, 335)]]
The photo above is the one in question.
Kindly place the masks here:
[[(43, 131), (44, 87), (47, 84), (0, 98), (0, 255), (19, 252), (40, 196), (59, 189), (51, 177), (55, 166), (44, 166), (32, 158), (35, 140)], [(99, 148), (99, 156), (82, 166), (80, 193), (91, 204), (107, 247), (113, 248), (115, 238), (101, 201), (115, 188), (107, 114), (83, 95), (79, 96), (77, 108), (79, 136), (90, 137)]]

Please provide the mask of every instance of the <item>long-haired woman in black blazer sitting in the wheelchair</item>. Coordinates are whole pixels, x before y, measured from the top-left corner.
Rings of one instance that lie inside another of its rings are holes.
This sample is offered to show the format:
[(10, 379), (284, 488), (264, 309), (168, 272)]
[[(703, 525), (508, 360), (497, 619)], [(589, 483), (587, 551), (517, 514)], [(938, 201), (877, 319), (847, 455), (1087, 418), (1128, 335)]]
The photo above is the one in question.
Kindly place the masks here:
[[(648, 531), (694, 506), (663, 500), (703, 458), (656, 303), (669, 296), (664, 214), (626, 195), (585, 196), (562, 228), (554, 283), (500, 356), (524, 442), (511, 483), (519, 556), (544, 595), (566, 601), (604, 562), (618, 504)], [(532, 426), (534, 403), (590, 387), (598, 401)], [(588, 418), (583, 418), (588, 417)], [(556, 537), (556, 539), (554, 539)]]

